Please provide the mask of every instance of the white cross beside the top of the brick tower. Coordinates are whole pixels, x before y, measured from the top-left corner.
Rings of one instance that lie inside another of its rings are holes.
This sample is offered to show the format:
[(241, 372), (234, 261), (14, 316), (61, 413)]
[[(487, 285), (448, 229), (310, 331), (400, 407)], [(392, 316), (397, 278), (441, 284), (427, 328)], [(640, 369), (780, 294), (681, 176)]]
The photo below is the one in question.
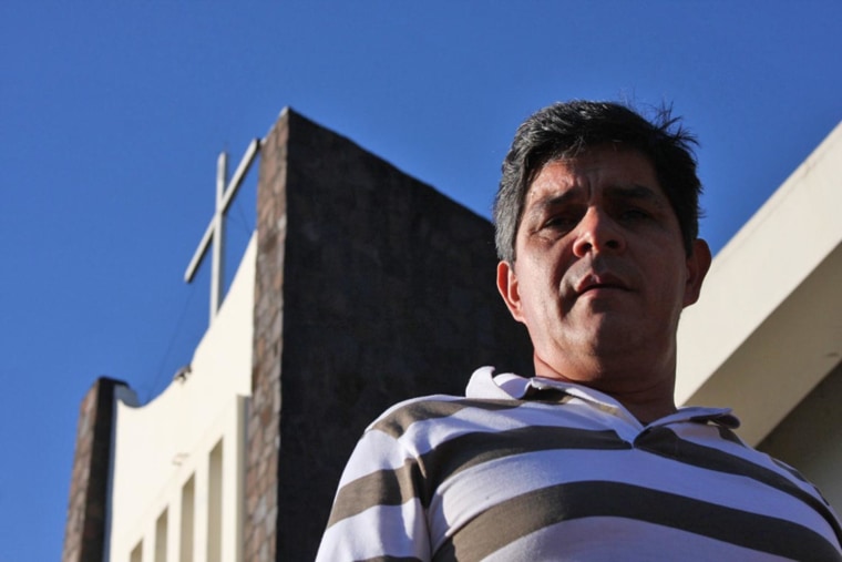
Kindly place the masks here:
[(259, 149), (260, 141), (258, 139), (251, 141), (227, 187), (225, 182), (228, 175), (228, 155), (225, 152), (219, 154), (219, 159), (216, 161), (216, 210), (214, 211), (213, 218), (210, 218), (210, 224), (207, 225), (205, 235), (202, 236), (202, 242), (199, 242), (196, 253), (193, 254), (191, 265), (187, 266), (187, 270), (184, 273), (185, 283), (191, 283), (196, 275), (196, 269), (202, 265), (202, 259), (205, 257), (208, 246), (213, 244), (209, 323), (214, 321), (214, 317), (216, 317), (216, 313), (223, 303), (223, 284), (225, 283), (225, 212), (230, 206), (234, 195), (239, 190)]

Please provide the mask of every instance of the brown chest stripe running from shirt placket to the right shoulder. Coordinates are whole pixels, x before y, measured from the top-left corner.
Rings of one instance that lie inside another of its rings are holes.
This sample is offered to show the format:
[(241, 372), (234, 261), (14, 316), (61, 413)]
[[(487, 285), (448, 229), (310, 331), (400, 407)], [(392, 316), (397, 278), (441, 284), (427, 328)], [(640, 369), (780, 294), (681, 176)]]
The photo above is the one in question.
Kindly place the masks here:
[(635, 440), (635, 448), (685, 464), (750, 478), (774, 488), (776, 490), (788, 493), (807, 503), (824, 518), (836, 534), (836, 539), (842, 543), (842, 529), (830, 508), (820, 499), (803, 491), (791, 480), (773, 470), (760, 467), (751, 461), (735, 457), (733, 454), (729, 454), (711, 447), (685, 441), (672, 430), (664, 427), (653, 428), (651, 431), (641, 433)]

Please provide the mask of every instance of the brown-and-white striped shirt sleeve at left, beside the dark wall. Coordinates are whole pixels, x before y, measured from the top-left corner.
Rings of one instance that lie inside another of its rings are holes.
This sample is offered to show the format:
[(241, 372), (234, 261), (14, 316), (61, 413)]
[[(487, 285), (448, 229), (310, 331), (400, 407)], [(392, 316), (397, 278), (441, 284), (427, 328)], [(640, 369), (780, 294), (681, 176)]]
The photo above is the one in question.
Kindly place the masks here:
[(430, 560), (419, 461), (393, 436), (369, 429), (339, 481), (317, 562)]

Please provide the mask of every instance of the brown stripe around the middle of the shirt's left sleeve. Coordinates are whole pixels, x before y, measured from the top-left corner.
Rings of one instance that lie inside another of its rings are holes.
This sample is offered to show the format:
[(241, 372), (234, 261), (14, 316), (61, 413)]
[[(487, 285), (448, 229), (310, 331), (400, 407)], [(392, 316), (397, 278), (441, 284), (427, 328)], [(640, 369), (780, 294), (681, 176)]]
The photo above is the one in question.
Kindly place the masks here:
[(418, 463), (409, 460), (397, 470), (379, 470), (348, 482), (337, 494), (328, 528), (376, 505), (402, 505), (418, 495), (420, 481)]

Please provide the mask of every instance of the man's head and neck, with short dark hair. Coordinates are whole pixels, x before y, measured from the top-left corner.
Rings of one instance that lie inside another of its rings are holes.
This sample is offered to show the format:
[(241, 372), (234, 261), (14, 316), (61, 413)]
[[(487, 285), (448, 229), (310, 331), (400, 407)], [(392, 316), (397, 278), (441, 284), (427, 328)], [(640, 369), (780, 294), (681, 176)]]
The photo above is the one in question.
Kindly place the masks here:
[(517, 131), (495, 207), (497, 288), (530, 333), (536, 375), (661, 415), (678, 319), (710, 265), (691, 139), (663, 119), (594, 102), (542, 110)]

